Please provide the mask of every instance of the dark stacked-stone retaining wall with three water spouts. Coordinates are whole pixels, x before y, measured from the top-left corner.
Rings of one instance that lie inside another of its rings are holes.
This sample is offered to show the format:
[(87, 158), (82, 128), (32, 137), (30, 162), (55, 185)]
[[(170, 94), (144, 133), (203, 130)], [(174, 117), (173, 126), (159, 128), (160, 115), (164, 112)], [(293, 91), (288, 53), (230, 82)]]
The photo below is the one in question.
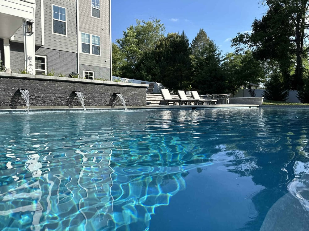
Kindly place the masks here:
[(76, 92), (83, 93), (86, 107), (121, 106), (116, 94), (124, 96), (127, 106), (146, 106), (147, 87), (137, 83), (0, 73), (0, 108), (26, 106), (20, 89), (29, 91), (31, 107), (81, 106)]

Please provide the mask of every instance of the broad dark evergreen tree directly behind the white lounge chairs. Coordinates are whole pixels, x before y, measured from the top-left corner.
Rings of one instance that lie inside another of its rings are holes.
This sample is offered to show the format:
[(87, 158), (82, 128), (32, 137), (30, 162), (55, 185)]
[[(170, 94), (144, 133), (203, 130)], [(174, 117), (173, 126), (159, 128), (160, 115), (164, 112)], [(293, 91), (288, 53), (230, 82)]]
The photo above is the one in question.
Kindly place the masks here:
[(162, 83), (171, 91), (187, 90), (191, 84), (192, 66), (187, 36), (169, 33), (160, 39), (153, 51), (146, 53), (137, 66), (137, 75)]

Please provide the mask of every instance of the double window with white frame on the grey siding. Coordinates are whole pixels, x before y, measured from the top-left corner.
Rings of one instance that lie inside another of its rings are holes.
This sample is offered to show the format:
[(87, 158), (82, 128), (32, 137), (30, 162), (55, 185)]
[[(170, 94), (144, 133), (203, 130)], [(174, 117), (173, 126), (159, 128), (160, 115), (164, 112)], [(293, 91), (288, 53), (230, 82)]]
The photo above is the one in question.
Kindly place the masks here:
[(82, 53), (100, 55), (100, 36), (82, 33)]

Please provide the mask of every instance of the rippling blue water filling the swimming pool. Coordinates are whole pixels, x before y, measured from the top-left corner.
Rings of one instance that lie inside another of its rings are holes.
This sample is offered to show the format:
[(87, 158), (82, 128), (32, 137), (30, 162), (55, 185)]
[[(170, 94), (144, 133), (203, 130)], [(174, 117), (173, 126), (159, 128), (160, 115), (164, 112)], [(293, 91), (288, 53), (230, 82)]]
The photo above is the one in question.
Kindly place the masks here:
[(0, 230), (308, 230), (308, 111), (0, 115)]

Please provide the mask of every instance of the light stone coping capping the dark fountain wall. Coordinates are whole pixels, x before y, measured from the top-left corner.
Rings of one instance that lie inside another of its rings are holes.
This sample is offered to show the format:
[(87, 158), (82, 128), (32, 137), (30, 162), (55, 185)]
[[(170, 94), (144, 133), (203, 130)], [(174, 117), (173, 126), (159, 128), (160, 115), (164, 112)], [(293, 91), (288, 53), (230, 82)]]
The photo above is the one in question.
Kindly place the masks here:
[(19, 73), (4, 73), (0, 72), (0, 78), (10, 78), (10, 79), (32, 79), (32, 80), (45, 80), (45, 81), (57, 81), (57, 82), (71, 82), (71, 83), (88, 83), (88, 84), (98, 84), (98, 85), (112, 85), (112, 86), (123, 86), (123, 87), (148, 87), (148, 84), (140, 83), (122, 83), (122, 82), (112, 82), (112, 81), (102, 81), (93, 79), (79, 79), (79, 78), (69, 78), (69, 77), (59, 77), (59, 76), (48, 76), (48, 75), (27, 75)]

